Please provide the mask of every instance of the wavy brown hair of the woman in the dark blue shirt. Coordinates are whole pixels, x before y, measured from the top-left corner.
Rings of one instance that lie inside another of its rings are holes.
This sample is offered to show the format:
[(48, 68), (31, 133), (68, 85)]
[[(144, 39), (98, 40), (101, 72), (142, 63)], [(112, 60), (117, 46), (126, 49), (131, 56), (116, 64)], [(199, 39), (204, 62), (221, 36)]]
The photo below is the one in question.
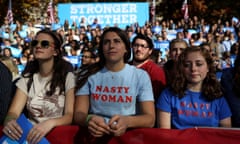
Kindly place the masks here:
[(206, 78), (203, 80), (202, 83), (201, 92), (203, 93), (204, 97), (208, 101), (212, 101), (216, 98), (222, 97), (223, 96), (222, 88), (220, 82), (216, 78), (216, 68), (214, 66), (214, 62), (210, 53), (203, 47), (196, 46), (186, 48), (179, 56), (177, 62), (177, 72), (176, 75), (174, 76), (173, 82), (170, 84), (171, 90), (179, 98), (184, 97), (188, 84), (188, 81), (183, 73), (184, 61), (187, 55), (193, 52), (201, 53), (201, 55), (205, 58), (209, 69), (209, 72), (207, 73)]

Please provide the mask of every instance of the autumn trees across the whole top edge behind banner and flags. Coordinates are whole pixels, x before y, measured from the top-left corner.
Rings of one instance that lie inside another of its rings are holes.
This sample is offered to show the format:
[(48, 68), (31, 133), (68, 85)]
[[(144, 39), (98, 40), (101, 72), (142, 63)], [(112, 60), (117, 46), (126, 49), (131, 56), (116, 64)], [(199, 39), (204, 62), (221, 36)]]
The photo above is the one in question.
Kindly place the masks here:
[[(50, 0), (12, 0), (12, 11), (14, 20), (25, 22), (29, 20), (30, 14), (34, 14), (34, 9), (40, 9), (39, 14), (43, 15), (46, 11), (47, 4)], [(144, 2), (147, 0), (117, 0), (117, 2)], [(156, 16), (164, 19), (181, 19), (183, 18), (181, 7), (184, 0), (162, 0), (156, 5)], [(109, 2), (107, 0), (53, 0), (55, 4), (66, 2)], [(116, 1), (113, 1), (116, 2)], [(240, 18), (239, 0), (188, 0), (189, 16), (194, 15), (205, 18), (209, 21), (216, 21), (221, 18), (223, 20), (230, 19), (233, 16)], [(0, 0), (0, 21), (3, 22), (6, 16), (8, 0)]]

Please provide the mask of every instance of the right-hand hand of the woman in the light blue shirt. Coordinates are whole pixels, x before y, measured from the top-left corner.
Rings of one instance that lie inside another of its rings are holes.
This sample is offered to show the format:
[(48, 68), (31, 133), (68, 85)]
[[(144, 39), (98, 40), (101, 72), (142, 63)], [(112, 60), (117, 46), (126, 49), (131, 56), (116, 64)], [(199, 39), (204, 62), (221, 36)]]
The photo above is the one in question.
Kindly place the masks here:
[(126, 132), (128, 128), (127, 117), (115, 115), (109, 120), (108, 125), (110, 126), (111, 133), (114, 136), (121, 136)]

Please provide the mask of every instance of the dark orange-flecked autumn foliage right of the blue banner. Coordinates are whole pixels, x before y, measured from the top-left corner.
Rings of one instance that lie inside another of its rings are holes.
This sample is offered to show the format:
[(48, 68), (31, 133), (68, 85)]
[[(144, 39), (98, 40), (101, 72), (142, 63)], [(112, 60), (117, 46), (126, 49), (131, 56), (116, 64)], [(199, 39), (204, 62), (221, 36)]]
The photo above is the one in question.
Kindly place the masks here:
[[(181, 19), (183, 14), (181, 7), (184, 0), (162, 0), (157, 5), (156, 14), (165, 19)], [(208, 21), (231, 19), (233, 16), (240, 18), (239, 0), (188, 0), (189, 16), (198, 16)]]

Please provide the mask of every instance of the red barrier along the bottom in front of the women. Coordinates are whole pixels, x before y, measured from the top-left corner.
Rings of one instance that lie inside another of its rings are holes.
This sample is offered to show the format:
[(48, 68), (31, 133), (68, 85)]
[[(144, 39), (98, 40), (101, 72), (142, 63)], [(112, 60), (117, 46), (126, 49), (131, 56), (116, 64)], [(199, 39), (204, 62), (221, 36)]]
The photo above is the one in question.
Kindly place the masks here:
[[(2, 127), (0, 127), (2, 129)], [(0, 131), (0, 135), (2, 135)], [(78, 126), (54, 128), (46, 138), (51, 144), (239, 144), (239, 129), (191, 128), (169, 130), (142, 128), (129, 130), (120, 137), (93, 138), (86, 129)]]

